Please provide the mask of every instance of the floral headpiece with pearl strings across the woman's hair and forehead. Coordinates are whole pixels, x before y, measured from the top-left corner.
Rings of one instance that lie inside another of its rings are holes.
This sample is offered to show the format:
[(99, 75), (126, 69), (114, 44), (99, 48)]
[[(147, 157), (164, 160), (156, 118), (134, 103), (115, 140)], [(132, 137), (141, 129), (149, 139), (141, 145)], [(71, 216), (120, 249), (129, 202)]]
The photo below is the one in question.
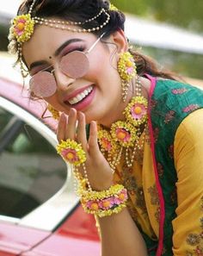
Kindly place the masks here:
[[(38, 16), (32, 16), (35, 3), (36, 3), (36, 0), (34, 0), (33, 3), (31, 4), (28, 10), (28, 14), (15, 16), (15, 18), (11, 21), (11, 27), (9, 29), (9, 49), (12, 51), (12, 47), (16, 43), (16, 46), (17, 46), (16, 52), (18, 54), (18, 59), (20, 62), (23, 78), (26, 78), (28, 76), (28, 70), (25, 69), (22, 61), (22, 44), (28, 41), (32, 37), (32, 35), (34, 34), (34, 26), (36, 24), (48, 26), (50, 28), (59, 28), (62, 30), (68, 30), (71, 32), (91, 33), (94, 31), (101, 30), (110, 21), (110, 15), (108, 14), (108, 11), (104, 8), (102, 8), (101, 11), (98, 14), (96, 14), (94, 17), (84, 22), (68, 22), (68, 21), (60, 21), (60, 20), (41, 18)], [(80, 27), (83, 24), (92, 22), (97, 18), (99, 18), (100, 16), (102, 16), (102, 14), (106, 16), (106, 20), (102, 22), (102, 24), (99, 26), (96, 26), (93, 28), (91, 27), (90, 28), (73, 28), (72, 27), (72, 26)]]

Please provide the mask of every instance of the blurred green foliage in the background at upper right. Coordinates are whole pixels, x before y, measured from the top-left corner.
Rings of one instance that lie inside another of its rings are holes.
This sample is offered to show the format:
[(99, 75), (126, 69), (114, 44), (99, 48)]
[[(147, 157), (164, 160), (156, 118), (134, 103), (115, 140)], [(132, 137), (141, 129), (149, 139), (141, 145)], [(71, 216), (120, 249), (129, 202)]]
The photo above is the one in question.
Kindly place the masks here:
[[(142, 16), (148, 21), (170, 23), (203, 35), (202, 0), (112, 0), (111, 3), (126, 13)], [(157, 59), (161, 66), (182, 76), (203, 79), (202, 54), (181, 53), (154, 47), (142, 47), (142, 52)]]

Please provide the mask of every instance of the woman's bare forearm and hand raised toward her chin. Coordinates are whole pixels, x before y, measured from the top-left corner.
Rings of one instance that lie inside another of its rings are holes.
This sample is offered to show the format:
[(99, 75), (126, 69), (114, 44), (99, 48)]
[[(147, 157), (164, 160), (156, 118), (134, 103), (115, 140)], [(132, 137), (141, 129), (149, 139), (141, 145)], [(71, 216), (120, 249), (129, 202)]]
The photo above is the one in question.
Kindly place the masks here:
[[(91, 122), (89, 140), (87, 140), (83, 113), (77, 113), (75, 109), (71, 109), (68, 118), (62, 115), (58, 122), (58, 141), (67, 139), (77, 140), (78, 143), (81, 143), (86, 153), (85, 166), (92, 189), (108, 190), (113, 184), (113, 172), (98, 147), (96, 123)], [(99, 218), (99, 224), (102, 237), (102, 256), (147, 255), (145, 241), (126, 208), (118, 214)]]

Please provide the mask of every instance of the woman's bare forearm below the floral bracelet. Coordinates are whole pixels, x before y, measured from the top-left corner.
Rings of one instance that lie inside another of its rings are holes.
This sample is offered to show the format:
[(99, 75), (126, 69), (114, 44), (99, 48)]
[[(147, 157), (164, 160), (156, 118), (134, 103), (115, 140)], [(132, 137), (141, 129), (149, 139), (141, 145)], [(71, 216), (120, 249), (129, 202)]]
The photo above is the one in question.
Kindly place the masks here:
[(102, 256), (146, 256), (145, 241), (127, 209), (98, 219)]

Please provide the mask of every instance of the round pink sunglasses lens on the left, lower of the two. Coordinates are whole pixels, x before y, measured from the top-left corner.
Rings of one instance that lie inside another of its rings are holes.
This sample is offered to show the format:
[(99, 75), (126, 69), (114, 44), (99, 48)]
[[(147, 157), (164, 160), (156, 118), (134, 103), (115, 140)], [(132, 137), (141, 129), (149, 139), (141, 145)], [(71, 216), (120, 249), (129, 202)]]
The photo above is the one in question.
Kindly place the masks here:
[(29, 81), (30, 90), (37, 97), (50, 97), (57, 90), (57, 84), (50, 72), (39, 72)]

